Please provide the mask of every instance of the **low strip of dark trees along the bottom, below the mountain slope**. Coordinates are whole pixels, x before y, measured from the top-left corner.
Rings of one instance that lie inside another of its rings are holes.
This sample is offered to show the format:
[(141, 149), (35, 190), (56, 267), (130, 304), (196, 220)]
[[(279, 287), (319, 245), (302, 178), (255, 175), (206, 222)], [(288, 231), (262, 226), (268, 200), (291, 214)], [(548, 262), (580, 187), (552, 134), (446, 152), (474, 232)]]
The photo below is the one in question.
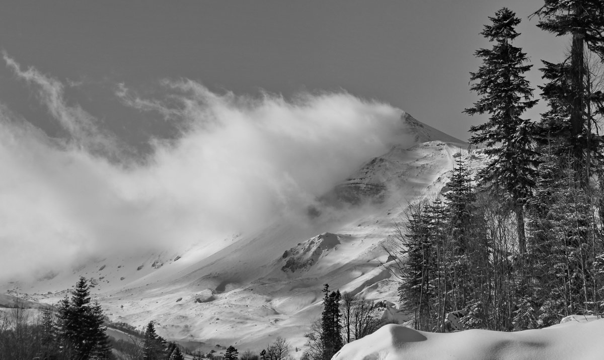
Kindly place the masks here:
[[(313, 346), (303, 354), (305, 359), (330, 359), (344, 341), (368, 335), (379, 324), (373, 302), (350, 294), (344, 294), (341, 301), (339, 291), (328, 289), (326, 285), (323, 317), (315, 323), (318, 327), (313, 327), (316, 334), (307, 334)], [(125, 323), (112, 324), (129, 336), (128, 340), (116, 340), (108, 336), (100, 303), (91, 302), (85, 277), (80, 277), (71, 297), (66, 295), (56, 307), (42, 308), (37, 318), (33, 312), (23, 303), (0, 312), (0, 360), (184, 360), (187, 353), (193, 360), (294, 359), (294, 349), (281, 336), (259, 353), (246, 350), (240, 354), (234, 346), (222, 348), (224, 353), (190, 352), (158, 335), (153, 321), (143, 331)]]

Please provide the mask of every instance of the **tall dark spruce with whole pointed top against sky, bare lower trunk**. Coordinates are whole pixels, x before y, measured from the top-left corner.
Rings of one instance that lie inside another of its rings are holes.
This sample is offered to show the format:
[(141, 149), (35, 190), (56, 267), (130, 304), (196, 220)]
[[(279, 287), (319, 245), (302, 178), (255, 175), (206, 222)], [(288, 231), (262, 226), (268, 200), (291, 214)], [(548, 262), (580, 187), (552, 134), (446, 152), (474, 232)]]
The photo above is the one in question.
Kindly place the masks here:
[(489, 120), (472, 126), (475, 133), (472, 144), (491, 147), (489, 164), (478, 175), (481, 183), (490, 183), (512, 201), (516, 214), (518, 247), (525, 253), (524, 205), (533, 187), (535, 153), (532, 149), (531, 123), (522, 119), (525, 110), (537, 103), (532, 99), (533, 89), (524, 77), (532, 65), (521, 48), (512, 45), (519, 33), (520, 23), (508, 8), (489, 17), (492, 25), (485, 25), (482, 35), (495, 42), (492, 49), (479, 49), (475, 55), (483, 59), (477, 72), (471, 72), (471, 89), (480, 95), (474, 106), (464, 110), (469, 115), (489, 114)]

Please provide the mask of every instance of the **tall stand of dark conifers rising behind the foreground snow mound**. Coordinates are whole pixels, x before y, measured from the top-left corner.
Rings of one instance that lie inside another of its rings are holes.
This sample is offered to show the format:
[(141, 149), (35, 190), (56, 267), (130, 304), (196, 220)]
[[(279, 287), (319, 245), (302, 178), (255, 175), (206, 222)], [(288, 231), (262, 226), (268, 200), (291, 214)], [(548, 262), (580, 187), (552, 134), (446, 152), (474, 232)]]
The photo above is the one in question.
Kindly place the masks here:
[(470, 142), (489, 160), (471, 178), (458, 154), (448, 191), (411, 204), (387, 248), (396, 257), (403, 308), (417, 329), (443, 330), (445, 315), (467, 309), (468, 328), (533, 329), (604, 305), (604, 2), (545, 0), (539, 28), (568, 35), (562, 62), (542, 61), (539, 121), (524, 77), (532, 65), (513, 46), (520, 19), (502, 8), (481, 33), (471, 72), (479, 99)]

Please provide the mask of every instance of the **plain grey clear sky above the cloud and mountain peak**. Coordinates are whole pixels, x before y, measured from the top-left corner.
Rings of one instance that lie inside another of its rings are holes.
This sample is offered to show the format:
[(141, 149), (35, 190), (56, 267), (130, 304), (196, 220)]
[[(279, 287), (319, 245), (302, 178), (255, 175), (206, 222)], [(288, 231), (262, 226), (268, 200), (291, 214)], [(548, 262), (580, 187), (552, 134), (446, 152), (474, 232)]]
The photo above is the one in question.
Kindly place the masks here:
[[(498, 8), (522, 18), (516, 45), (539, 59), (565, 43), (527, 19), (541, 0), (5, 1), (0, 46), (24, 67), (78, 84), (66, 95), (130, 141), (169, 133), (116, 101), (114, 87), (144, 89), (190, 78), (215, 92), (284, 96), (345, 90), (399, 107), (467, 139), (483, 122), (462, 114), (475, 100), (469, 71), (480, 31)], [(530, 75), (539, 81), (535, 70)], [(537, 82), (535, 82), (537, 84)], [(538, 93), (538, 92), (537, 92)], [(23, 83), (0, 66), (0, 101), (52, 133)], [(528, 116), (537, 118), (538, 107)]]

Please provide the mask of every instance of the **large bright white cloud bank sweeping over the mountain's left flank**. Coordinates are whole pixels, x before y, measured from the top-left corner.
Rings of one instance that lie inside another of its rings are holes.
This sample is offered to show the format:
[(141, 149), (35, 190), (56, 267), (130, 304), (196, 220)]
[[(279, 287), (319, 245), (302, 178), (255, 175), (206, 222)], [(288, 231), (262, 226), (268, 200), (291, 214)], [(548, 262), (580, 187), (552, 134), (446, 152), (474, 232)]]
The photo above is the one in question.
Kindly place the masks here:
[(153, 97), (124, 84), (116, 95), (178, 121), (181, 135), (151, 139), (142, 162), (116, 162), (97, 151), (117, 146), (114, 137), (66, 104), (59, 80), (4, 59), (71, 139), (57, 145), (0, 106), (0, 280), (301, 221), (362, 163), (411, 142), (401, 110), (348, 93), (238, 96), (165, 80)]

